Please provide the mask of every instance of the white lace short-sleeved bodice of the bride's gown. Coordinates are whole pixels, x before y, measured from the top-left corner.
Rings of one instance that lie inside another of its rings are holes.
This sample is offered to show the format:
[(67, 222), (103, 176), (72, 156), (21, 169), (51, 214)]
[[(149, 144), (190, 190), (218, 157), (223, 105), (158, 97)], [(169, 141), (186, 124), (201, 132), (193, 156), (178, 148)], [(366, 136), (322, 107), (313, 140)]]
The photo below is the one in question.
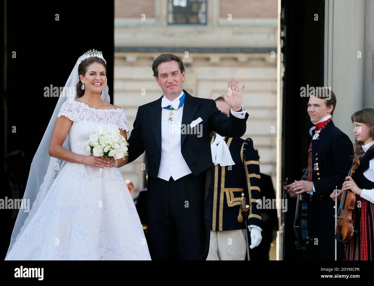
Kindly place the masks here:
[(99, 126), (129, 132), (127, 116), (122, 108), (96, 109), (70, 99), (62, 104), (57, 117), (60, 116), (66, 116), (73, 121), (69, 130), (69, 139), (71, 151), (77, 154), (88, 155), (88, 152), (84, 151), (84, 142)]

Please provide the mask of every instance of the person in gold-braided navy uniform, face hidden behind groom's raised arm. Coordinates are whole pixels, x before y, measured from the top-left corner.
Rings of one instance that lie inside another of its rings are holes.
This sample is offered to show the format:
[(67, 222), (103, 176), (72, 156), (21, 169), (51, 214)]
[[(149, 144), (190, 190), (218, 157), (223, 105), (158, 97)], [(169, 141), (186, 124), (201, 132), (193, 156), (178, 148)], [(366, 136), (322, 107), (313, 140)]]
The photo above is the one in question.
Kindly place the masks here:
[[(216, 100), (217, 108), (229, 116), (230, 107), (223, 97)], [(244, 260), (246, 255), (246, 225), (251, 231), (251, 246), (261, 242), (260, 166), (251, 138), (222, 137), (216, 132), (211, 139), (214, 167), (206, 199), (210, 217), (209, 254), (206, 260)], [(249, 205), (248, 220), (240, 211), (242, 193)]]

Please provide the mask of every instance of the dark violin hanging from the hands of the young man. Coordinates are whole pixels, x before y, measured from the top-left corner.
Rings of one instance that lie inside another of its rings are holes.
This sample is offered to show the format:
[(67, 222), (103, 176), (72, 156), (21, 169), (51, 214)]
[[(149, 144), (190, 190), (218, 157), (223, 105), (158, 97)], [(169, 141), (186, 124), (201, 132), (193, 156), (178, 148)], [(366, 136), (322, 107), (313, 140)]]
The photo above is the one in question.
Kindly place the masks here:
[[(305, 180), (308, 175), (308, 169), (303, 169), (303, 176), (301, 180)], [(313, 239), (308, 235), (307, 227), (307, 202), (301, 194), (297, 195), (297, 203), (295, 210), (295, 219), (294, 219), (294, 231), (295, 231), (295, 246), (296, 249), (306, 249), (306, 246)]]

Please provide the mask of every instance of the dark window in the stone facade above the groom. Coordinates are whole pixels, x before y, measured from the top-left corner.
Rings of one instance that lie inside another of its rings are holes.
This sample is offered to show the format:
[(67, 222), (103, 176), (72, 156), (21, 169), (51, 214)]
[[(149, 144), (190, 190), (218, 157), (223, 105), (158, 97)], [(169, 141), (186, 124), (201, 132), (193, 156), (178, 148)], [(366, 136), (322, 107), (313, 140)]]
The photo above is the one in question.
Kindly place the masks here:
[(206, 25), (206, 0), (169, 0), (168, 24)]

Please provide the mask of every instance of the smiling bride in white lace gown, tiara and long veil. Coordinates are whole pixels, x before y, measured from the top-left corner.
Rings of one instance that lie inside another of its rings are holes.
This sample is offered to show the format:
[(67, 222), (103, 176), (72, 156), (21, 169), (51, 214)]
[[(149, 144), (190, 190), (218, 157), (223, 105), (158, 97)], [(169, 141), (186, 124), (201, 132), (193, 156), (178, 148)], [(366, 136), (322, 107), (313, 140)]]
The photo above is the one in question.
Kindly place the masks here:
[(89, 50), (77, 60), (34, 156), (24, 195), (33, 207), (19, 210), (5, 260), (150, 259), (118, 169), (127, 156), (117, 161), (85, 151), (99, 126), (119, 129), (127, 141), (126, 114), (109, 102), (106, 61)]

